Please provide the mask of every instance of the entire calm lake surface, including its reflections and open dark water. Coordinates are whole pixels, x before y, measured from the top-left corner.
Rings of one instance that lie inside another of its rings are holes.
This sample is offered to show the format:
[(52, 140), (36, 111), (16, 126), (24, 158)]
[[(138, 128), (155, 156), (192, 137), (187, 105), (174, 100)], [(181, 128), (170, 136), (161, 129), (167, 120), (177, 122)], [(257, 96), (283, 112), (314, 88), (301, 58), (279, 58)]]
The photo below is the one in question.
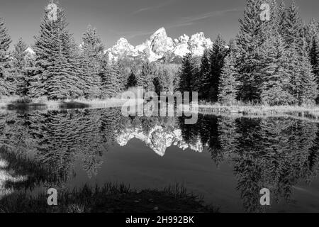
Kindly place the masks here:
[[(84, 183), (181, 183), (222, 212), (319, 211), (318, 123), (199, 116), (185, 125), (183, 118), (125, 118), (119, 109), (11, 112), (0, 114), (0, 146), (30, 158), (15, 166), (15, 156), (2, 157), (2, 196)], [(25, 178), (11, 179), (12, 171)], [(271, 206), (260, 206), (262, 188), (271, 191)]]

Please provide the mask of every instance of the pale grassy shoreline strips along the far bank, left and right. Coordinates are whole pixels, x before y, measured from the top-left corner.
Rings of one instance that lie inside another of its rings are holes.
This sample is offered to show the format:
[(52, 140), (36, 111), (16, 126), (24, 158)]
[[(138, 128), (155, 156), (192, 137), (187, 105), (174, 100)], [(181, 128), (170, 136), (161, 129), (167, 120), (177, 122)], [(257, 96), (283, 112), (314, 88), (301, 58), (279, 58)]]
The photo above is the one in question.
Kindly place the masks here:
[[(17, 97), (3, 97), (0, 99), (1, 111), (14, 110), (64, 110), (64, 109), (104, 109), (121, 107), (128, 99), (74, 99), (52, 101), (46, 98), (24, 99)], [(132, 100), (133, 101), (133, 100)], [(194, 108), (192, 105), (191, 108)], [(199, 101), (199, 114), (231, 115), (246, 117), (290, 116), (304, 120), (319, 121), (319, 106), (266, 106), (261, 104), (218, 104)]]

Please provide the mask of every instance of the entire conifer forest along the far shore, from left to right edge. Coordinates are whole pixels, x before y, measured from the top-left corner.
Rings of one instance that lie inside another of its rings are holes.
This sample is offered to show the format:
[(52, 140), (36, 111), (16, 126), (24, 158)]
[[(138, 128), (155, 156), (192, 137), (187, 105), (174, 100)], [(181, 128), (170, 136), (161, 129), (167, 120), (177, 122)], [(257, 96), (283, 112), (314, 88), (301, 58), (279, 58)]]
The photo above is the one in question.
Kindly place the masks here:
[[(270, 20), (260, 6), (270, 6)], [(229, 41), (217, 35), (203, 56), (188, 54), (180, 64), (108, 60), (101, 36), (88, 26), (82, 44), (68, 29), (65, 10), (57, 20), (45, 9), (30, 55), (19, 39), (11, 50), (9, 28), (0, 18), (0, 96), (26, 102), (108, 99), (130, 87), (147, 91), (198, 92), (201, 101), (220, 104), (315, 106), (318, 104), (319, 23), (304, 23), (293, 2), (247, 0), (239, 31)]]

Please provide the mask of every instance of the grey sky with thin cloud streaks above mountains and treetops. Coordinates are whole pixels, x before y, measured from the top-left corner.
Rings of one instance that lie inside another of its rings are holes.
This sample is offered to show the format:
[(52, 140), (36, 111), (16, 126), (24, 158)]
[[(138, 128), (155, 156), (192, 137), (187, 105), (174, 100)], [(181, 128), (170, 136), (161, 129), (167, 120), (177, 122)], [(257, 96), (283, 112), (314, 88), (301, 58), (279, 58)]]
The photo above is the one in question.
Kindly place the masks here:
[[(285, 3), (289, 6), (291, 0)], [(48, 0), (0, 0), (0, 16), (13, 43), (23, 38), (33, 45), (47, 4)], [(318, 0), (296, 0), (296, 4), (303, 21), (319, 19)], [(237, 34), (245, 0), (60, 0), (60, 6), (77, 43), (91, 24), (109, 48), (121, 37), (139, 45), (162, 27), (172, 38), (203, 32), (212, 40), (218, 33), (229, 40)]]

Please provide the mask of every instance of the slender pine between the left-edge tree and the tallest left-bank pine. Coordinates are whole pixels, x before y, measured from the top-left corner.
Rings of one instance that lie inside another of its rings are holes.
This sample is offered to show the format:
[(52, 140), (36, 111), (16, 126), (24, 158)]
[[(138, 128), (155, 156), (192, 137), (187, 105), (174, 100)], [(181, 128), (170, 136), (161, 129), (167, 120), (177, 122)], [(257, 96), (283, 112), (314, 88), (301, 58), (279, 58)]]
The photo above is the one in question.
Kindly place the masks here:
[(27, 50), (28, 46), (23, 42), (22, 38), (14, 45), (12, 52), (12, 67), (16, 78), (16, 94), (19, 96), (26, 96), (28, 92), (28, 80), (26, 79), (27, 66)]

